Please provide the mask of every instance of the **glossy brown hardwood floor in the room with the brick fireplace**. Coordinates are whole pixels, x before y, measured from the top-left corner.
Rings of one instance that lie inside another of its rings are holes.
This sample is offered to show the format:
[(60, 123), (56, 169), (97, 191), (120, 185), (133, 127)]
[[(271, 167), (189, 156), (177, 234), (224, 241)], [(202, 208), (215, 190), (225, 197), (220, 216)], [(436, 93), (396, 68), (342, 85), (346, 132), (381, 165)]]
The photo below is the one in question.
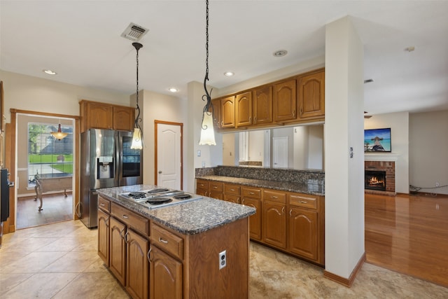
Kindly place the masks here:
[(365, 195), (367, 262), (448, 287), (448, 196)]

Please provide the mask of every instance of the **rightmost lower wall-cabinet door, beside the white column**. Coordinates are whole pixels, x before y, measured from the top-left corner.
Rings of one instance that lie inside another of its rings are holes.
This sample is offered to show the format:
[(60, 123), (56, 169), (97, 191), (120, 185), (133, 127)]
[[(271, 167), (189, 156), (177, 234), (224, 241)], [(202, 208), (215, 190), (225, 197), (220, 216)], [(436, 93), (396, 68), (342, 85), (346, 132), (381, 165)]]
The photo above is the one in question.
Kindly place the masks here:
[(317, 212), (290, 207), (288, 250), (310, 260), (318, 260)]

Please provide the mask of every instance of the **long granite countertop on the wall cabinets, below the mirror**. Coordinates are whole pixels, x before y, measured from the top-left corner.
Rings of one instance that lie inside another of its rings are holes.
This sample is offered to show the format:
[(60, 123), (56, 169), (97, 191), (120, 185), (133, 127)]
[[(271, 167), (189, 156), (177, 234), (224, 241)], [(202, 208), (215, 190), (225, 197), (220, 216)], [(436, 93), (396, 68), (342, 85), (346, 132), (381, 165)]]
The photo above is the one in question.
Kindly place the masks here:
[(232, 176), (216, 176), (216, 175), (196, 176), (196, 179), (205, 179), (208, 181), (222, 181), (225, 183), (236, 183), (239, 185), (245, 185), (251, 187), (269, 188), (274, 190), (325, 196), (325, 187), (323, 183), (320, 183), (319, 181), (314, 179), (309, 179), (307, 183), (295, 183), (288, 181), (266, 181), (259, 179), (244, 179)]

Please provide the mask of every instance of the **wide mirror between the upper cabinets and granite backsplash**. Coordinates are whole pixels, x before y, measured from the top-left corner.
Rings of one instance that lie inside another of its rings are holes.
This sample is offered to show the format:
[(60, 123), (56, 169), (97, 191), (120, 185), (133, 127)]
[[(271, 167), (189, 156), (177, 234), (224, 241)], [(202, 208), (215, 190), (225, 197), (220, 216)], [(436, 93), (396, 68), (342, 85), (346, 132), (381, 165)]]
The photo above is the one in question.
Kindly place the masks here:
[(323, 124), (225, 133), (223, 165), (323, 170)]

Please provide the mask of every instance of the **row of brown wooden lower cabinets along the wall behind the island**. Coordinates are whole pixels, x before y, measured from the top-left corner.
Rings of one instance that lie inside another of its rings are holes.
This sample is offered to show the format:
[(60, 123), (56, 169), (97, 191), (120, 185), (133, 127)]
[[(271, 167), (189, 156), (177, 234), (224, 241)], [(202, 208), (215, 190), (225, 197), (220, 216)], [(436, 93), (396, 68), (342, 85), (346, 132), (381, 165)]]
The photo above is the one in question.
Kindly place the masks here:
[(254, 241), (325, 265), (323, 196), (197, 179), (197, 192), (203, 186), (215, 186), (214, 190), (220, 194), (216, 198), (223, 194), (228, 202), (256, 209), (249, 217), (249, 234)]

